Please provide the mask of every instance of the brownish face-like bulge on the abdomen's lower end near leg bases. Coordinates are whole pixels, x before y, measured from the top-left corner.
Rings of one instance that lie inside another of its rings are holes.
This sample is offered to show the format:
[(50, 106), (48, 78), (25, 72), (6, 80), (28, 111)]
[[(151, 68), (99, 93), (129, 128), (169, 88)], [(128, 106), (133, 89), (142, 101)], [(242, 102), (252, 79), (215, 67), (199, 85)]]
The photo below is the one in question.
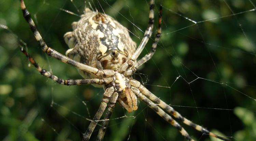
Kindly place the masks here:
[(119, 50), (110, 50), (99, 58), (103, 69), (118, 70), (127, 60), (127, 55)]

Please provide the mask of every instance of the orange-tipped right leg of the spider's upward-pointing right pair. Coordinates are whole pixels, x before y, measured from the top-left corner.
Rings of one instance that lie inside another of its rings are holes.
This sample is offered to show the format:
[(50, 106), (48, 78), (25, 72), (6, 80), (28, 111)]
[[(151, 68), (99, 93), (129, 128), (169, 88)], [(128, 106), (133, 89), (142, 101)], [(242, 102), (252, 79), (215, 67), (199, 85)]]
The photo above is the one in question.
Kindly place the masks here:
[(144, 57), (142, 57), (137, 62), (137, 67), (140, 67), (146, 61), (148, 61), (154, 55), (154, 53), (156, 51), (157, 44), (158, 44), (158, 42), (160, 40), (160, 37), (161, 37), (161, 23), (162, 23), (161, 17), (162, 17), (162, 5), (160, 5), (160, 8), (159, 8), (158, 29), (157, 29), (157, 34), (156, 34), (156, 37), (155, 37), (155, 41), (154, 41), (154, 43), (152, 44), (152, 47), (151, 47), (151, 51), (148, 54), (146, 54)]

